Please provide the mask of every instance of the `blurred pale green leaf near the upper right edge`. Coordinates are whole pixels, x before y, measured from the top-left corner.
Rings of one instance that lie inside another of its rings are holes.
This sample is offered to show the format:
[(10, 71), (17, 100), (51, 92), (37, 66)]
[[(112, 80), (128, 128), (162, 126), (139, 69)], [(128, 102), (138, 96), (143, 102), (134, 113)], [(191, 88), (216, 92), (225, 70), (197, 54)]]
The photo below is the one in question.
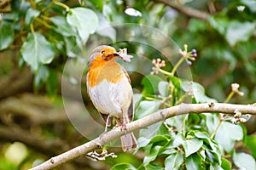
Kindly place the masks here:
[(255, 31), (254, 23), (242, 23), (235, 20), (230, 23), (225, 37), (230, 45), (234, 46), (236, 42), (246, 42), (250, 37), (253, 36), (253, 31)]

